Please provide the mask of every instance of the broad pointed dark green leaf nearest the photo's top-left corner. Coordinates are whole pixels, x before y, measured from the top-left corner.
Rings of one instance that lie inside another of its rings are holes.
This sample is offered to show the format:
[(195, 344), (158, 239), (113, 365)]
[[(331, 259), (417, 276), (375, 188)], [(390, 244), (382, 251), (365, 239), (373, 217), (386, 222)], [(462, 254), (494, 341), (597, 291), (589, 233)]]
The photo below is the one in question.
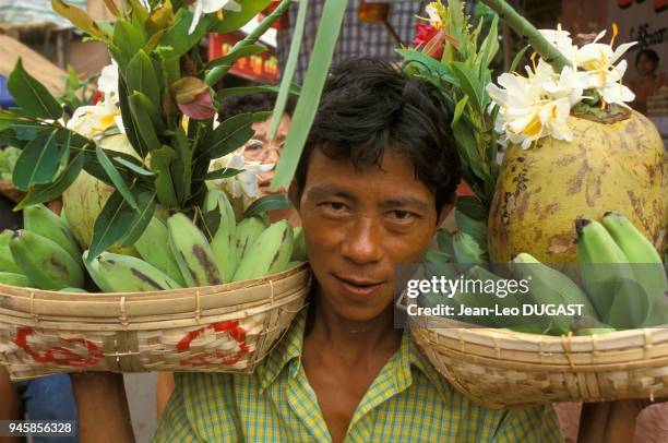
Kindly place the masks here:
[(62, 107), (48, 89), (23, 69), (21, 58), (11, 72), (7, 88), (22, 110), (43, 119), (58, 120)]

